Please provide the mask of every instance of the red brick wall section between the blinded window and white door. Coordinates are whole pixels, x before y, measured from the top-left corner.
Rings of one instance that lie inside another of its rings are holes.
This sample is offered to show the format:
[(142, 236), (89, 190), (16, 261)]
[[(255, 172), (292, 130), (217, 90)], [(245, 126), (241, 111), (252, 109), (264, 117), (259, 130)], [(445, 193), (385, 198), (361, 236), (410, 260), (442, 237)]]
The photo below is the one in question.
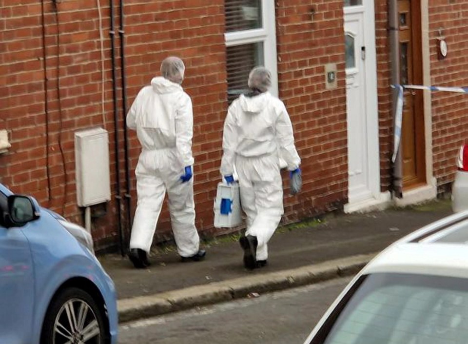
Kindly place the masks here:
[[(347, 200), (343, 1), (281, 0), (276, 17), (279, 96), (302, 159), (303, 191), (285, 202), (286, 219), (296, 220)], [(336, 89), (325, 87), (327, 63), (337, 65)]]

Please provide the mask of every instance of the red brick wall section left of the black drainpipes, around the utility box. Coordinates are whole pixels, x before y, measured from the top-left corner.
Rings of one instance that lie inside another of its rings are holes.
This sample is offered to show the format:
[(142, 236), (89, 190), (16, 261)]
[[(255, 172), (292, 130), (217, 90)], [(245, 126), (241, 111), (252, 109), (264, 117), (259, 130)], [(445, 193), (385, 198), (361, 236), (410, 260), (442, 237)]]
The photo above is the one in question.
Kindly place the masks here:
[[(111, 142), (114, 140), (108, 39), (104, 43), (105, 113), (101, 111), (96, 1), (60, 1), (57, 7), (44, 1), (44, 31), (40, 1), (18, 4), (5, 0), (1, 10), (5, 18), (1, 75), (7, 86), (0, 96), (4, 103), (0, 125), (9, 131), (12, 143), (9, 153), (0, 157), (2, 182), (81, 223), (76, 205), (74, 132), (105, 122)], [(108, 8), (102, 10), (109, 13)], [(104, 18), (103, 26), (109, 26), (108, 19)], [(105, 38), (108, 30), (106, 33)], [(110, 148), (111, 161), (115, 161), (112, 145)], [(109, 211), (115, 212), (114, 202)], [(110, 218), (95, 223), (96, 239), (116, 234), (113, 225), (104, 233), (106, 224), (115, 223)]]

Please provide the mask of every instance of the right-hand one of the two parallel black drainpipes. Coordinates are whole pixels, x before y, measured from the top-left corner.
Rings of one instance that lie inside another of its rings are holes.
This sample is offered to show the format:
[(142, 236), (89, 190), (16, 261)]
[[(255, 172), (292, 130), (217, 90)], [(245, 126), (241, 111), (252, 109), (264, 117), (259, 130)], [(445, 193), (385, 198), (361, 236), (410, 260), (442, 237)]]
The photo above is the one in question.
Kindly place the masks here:
[(120, 73), (122, 79), (122, 109), (123, 109), (123, 140), (124, 140), (124, 152), (125, 152), (125, 179), (127, 190), (125, 192), (125, 200), (127, 203), (127, 233), (130, 233), (132, 228), (132, 196), (130, 195), (130, 167), (128, 159), (128, 137), (127, 137), (127, 125), (125, 118), (127, 115), (127, 85), (125, 80), (125, 37), (124, 37), (124, 13), (123, 13), (123, 0), (120, 0), (120, 29), (118, 34), (120, 35)]

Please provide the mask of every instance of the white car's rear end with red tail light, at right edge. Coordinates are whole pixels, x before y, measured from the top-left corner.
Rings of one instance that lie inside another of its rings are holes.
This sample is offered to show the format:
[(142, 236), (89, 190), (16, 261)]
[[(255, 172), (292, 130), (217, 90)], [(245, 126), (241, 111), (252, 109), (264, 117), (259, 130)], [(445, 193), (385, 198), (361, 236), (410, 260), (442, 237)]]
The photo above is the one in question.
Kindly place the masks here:
[(468, 210), (468, 143), (461, 146), (457, 159), (457, 172), (452, 185), (452, 210)]

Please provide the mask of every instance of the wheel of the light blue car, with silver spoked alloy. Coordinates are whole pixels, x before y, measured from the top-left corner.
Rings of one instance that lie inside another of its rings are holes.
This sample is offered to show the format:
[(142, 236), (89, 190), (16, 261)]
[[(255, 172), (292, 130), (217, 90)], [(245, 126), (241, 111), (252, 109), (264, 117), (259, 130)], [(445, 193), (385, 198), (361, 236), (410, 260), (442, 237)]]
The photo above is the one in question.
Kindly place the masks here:
[(86, 291), (70, 287), (52, 300), (42, 327), (41, 344), (105, 344), (106, 317)]

